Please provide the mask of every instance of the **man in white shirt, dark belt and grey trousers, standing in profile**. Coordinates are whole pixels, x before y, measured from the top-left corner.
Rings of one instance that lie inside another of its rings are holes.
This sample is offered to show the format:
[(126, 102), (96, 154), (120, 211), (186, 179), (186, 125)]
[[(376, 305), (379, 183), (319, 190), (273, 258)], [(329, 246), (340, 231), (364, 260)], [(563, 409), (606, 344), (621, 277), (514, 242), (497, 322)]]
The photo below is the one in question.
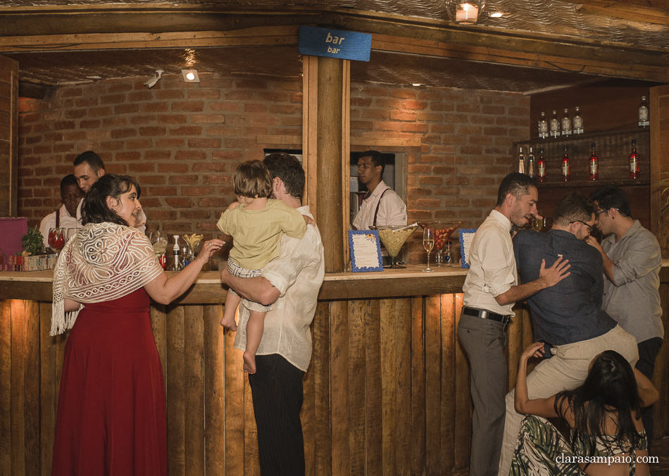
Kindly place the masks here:
[(463, 284), (463, 310), (458, 337), (470, 363), (474, 413), (469, 474), (496, 475), (499, 465), (506, 378), (504, 346), (511, 308), (569, 275), (568, 262), (558, 258), (550, 268), (542, 262), (539, 279), (518, 284), (511, 225), (523, 227), (537, 215), (539, 192), (534, 180), (510, 173), (502, 180), (497, 205), (476, 231), (469, 250), (470, 268)]

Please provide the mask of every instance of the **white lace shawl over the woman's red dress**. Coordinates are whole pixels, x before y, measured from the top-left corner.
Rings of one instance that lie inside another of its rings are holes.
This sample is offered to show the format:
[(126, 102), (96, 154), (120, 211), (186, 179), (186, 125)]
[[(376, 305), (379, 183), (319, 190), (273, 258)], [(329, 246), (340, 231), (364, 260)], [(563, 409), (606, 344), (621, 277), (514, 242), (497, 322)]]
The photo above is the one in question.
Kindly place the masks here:
[(51, 335), (70, 330), (79, 309), (65, 312), (65, 298), (80, 303), (111, 301), (163, 273), (145, 234), (114, 223), (89, 223), (61, 251), (54, 268)]

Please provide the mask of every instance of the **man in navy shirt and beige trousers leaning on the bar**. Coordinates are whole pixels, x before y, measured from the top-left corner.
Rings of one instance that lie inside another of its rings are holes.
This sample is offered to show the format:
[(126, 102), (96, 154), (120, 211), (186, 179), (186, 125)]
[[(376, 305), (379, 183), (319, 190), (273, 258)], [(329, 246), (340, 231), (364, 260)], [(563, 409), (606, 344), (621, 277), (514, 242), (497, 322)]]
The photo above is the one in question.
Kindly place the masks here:
[[(548, 232), (523, 230), (513, 238), (518, 274), (523, 282), (539, 276), (539, 264), (558, 256), (569, 260), (570, 275), (555, 286), (527, 298), (534, 340), (553, 346), (529, 375), (530, 399), (542, 399), (575, 389), (599, 353), (611, 349), (634, 365), (639, 353), (632, 334), (601, 309), (604, 289), (600, 253), (585, 239), (594, 226), (596, 206), (584, 196), (570, 194), (556, 206)], [(515, 411), (515, 392), (506, 395), (506, 422), (499, 474), (508, 475), (523, 415)]]

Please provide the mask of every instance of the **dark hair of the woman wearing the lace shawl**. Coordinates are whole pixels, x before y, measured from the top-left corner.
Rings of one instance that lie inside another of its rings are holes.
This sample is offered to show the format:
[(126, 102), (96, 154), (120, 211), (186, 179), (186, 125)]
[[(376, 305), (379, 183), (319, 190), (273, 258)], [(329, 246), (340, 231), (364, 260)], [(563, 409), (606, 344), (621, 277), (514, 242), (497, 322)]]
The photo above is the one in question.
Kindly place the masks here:
[(127, 225), (127, 222), (111, 208), (107, 206), (107, 197), (111, 196), (119, 200), (120, 196), (130, 190), (135, 185), (137, 198), (141, 190), (136, 180), (127, 175), (105, 174), (95, 182), (84, 197), (84, 203), (81, 206), (81, 223), (103, 223), (111, 222), (117, 225)]

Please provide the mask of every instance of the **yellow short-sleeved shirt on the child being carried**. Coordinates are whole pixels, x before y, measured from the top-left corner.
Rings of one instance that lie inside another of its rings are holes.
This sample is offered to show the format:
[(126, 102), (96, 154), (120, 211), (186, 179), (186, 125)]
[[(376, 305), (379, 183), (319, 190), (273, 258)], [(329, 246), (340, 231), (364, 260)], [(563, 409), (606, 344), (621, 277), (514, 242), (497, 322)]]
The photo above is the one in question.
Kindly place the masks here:
[(243, 204), (226, 210), (216, 223), (232, 237), (230, 258), (247, 270), (258, 270), (279, 256), (283, 234), (301, 239), (306, 223), (299, 211), (279, 200), (268, 199), (265, 208), (246, 210)]

